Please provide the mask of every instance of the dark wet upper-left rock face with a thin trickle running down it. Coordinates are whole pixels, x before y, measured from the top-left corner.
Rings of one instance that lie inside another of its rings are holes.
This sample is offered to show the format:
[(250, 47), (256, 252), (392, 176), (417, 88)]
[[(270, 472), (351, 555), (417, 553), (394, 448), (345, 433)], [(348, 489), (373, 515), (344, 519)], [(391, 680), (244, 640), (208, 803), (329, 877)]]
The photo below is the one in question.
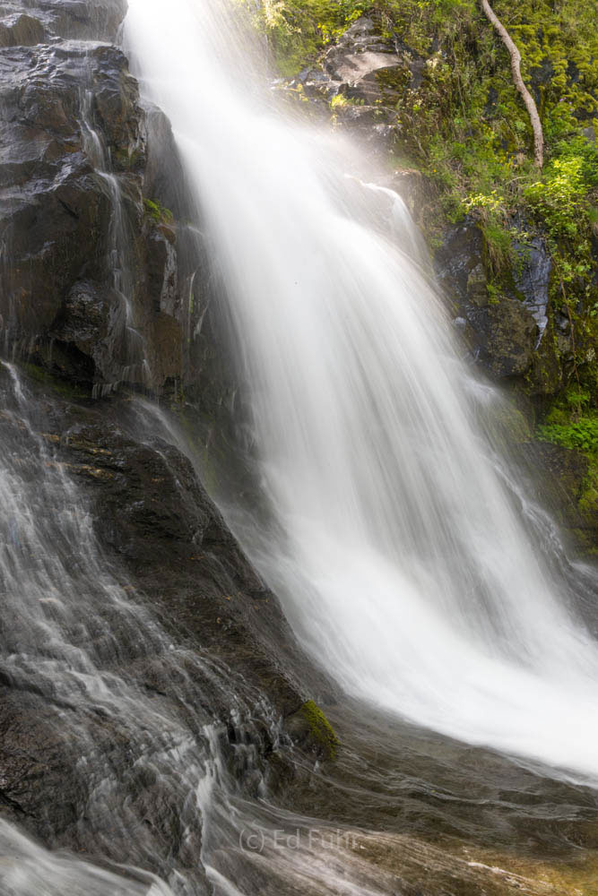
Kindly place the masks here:
[(0, 335), (97, 393), (160, 393), (184, 375), (195, 318), (180, 294), (186, 237), (153, 192), (169, 127), (141, 107), (122, 52), (89, 40), (114, 38), (123, 14), (48, 2), (4, 20)]

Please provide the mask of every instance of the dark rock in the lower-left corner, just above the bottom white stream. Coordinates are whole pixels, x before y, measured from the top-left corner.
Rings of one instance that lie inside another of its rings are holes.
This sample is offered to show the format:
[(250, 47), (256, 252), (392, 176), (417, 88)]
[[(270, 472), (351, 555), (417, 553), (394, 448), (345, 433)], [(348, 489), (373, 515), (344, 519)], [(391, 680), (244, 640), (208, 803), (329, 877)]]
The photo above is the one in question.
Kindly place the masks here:
[[(54, 849), (102, 863), (135, 863), (143, 856), (147, 870), (163, 875), (176, 865), (204, 892), (200, 831), (184, 830), (178, 795), (167, 782), (143, 762), (131, 763), (140, 734), (126, 719), (92, 704), (66, 705), (51, 689), (37, 691), (10, 678), (0, 685), (0, 698), (0, 814)], [(172, 712), (169, 698), (161, 699)], [(95, 814), (93, 825), (82, 823), (98, 800), (103, 819)], [(113, 823), (125, 800), (131, 823), (144, 819), (134, 838)]]

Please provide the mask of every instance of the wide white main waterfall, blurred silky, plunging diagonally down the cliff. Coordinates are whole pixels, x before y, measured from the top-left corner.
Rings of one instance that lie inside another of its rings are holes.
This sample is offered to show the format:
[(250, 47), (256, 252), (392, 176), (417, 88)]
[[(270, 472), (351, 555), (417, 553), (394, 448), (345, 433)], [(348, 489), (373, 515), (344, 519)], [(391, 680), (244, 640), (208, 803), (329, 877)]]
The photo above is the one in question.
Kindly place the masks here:
[(254, 558), (301, 641), (351, 694), (596, 780), (596, 643), (476, 431), (415, 237), (385, 237), (375, 202), (367, 220), (375, 194), (343, 177), (346, 147), (273, 110), (224, 4), (129, 6), (213, 239), (284, 532)]

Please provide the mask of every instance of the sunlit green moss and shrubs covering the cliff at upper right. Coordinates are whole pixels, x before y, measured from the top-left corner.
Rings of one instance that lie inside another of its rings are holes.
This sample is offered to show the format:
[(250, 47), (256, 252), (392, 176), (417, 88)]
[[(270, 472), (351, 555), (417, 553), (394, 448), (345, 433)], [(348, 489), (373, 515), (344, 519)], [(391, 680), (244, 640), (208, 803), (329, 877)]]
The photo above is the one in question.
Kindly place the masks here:
[(553, 263), (551, 307), (570, 323), (564, 382), (592, 387), (598, 338), (592, 276), (598, 241), (595, 4), (492, 5), (521, 51), (524, 81), (542, 118), (542, 171), (533, 166), (532, 129), (507, 50), (478, 0), (263, 0), (252, 14), (284, 76), (316, 64), (363, 14), (407, 65), (418, 66), (418, 78), (408, 71), (406, 78), (397, 75), (395, 159), (426, 177), (420, 215), (431, 245), (446, 222), (465, 215), (478, 220), (490, 291), (499, 295), (513, 289), (521, 246), (541, 235)]

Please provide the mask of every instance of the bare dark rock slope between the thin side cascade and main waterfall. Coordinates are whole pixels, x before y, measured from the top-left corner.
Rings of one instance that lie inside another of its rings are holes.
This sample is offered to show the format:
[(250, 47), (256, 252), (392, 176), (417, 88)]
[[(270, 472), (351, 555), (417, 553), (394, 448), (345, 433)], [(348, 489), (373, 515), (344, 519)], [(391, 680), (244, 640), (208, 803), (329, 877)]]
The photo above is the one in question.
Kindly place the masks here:
[(140, 441), (105, 415), (83, 418), (61, 421), (59, 455), (90, 495), (101, 544), (163, 625), (242, 671), (282, 716), (305, 700), (302, 678), (329, 692), (186, 456), (160, 438)]

